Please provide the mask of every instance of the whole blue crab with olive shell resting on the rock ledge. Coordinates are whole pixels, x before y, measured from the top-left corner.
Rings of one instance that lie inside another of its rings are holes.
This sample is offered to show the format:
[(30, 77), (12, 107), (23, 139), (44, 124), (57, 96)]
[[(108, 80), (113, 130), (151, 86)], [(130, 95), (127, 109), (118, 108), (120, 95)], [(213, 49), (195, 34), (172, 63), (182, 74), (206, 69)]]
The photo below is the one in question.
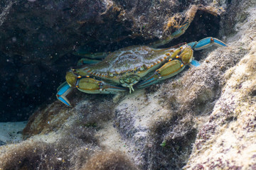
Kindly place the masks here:
[[(176, 30), (167, 41), (182, 35), (188, 25)], [(154, 46), (162, 44), (160, 42)], [(87, 94), (113, 94), (127, 90), (131, 93), (134, 88), (144, 88), (174, 77), (186, 65), (197, 67), (199, 63), (193, 60), (193, 50), (202, 50), (211, 45), (227, 46), (216, 38), (208, 37), (164, 49), (145, 45), (124, 47), (110, 53), (101, 62), (70, 69), (56, 96), (71, 107), (65, 96), (74, 88)]]

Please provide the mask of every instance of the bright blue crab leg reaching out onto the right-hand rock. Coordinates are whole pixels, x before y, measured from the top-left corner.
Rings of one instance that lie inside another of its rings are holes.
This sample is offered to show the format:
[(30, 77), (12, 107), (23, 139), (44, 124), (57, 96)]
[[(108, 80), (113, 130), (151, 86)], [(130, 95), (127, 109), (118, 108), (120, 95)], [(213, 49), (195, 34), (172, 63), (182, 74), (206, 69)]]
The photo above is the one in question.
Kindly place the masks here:
[(207, 47), (210, 47), (212, 45), (218, 45), (220, 47), (226, 47), (228, 45), (226, 45), (224, 42), (222, 42), (221, 40), (218, 40), (217, 38), (212, 38), (212, 37), (208, 37), (208, 38), (203, 38), (200, 41), (195, 41), (195, 42), (189, 42), (188, 43), (189, 46), (191, 46), (191, 48), (193, 50), (203, 50)]

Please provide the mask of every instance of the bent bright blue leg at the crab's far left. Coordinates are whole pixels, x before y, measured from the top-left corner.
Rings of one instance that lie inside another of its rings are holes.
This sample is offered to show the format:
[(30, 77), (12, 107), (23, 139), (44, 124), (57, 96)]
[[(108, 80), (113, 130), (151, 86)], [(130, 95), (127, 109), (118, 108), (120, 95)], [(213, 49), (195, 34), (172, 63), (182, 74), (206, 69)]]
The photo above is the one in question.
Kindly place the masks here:
[(64, 103), (66, 106), (68, 107), (72, 107), (70, 102), (68, 101), (68, 98), (66, 98), (65, 96), (67, 96), (67, 94), (69, 94), (70, 90), (72, 88), (70, 88), (70, 86), (68, 85), (68, 83), (65, 81), (63, 84), (61, 84), (58, 89), (57, 89), (57, 94), (56, 97), (58, 98), (59, 101), (61, 101), (62, 103)]

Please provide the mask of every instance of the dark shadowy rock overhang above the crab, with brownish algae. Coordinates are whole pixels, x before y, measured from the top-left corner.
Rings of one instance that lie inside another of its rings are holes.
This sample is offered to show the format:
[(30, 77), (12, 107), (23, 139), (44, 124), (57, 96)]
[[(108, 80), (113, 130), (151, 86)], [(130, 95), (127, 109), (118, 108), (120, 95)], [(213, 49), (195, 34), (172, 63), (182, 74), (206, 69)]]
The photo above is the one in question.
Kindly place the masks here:
[(227, 4), (206, 0), (3, 1), (0, 49), (21, 55), (23, 62), (51, 64), (80, 45), (90, 52), (108, 51), (108, 44), (128, 37), (166, 38), (184, 20), (193, 19), (195, 13), (189, 11), (193, 5), (220, 15)]

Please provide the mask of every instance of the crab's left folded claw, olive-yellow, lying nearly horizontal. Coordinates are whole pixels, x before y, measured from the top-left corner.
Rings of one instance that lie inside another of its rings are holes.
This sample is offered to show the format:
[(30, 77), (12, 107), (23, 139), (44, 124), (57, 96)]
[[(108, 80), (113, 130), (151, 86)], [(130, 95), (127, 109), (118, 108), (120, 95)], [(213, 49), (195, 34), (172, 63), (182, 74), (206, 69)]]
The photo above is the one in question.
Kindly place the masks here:
[(91, 78), (78, 79), (75, 86), (78, 88), (78, 90), (87, 94), (113, 94), (117, 93), (118, 91), (127, 91), (125, 88), (112, 86), (104, 81)]

